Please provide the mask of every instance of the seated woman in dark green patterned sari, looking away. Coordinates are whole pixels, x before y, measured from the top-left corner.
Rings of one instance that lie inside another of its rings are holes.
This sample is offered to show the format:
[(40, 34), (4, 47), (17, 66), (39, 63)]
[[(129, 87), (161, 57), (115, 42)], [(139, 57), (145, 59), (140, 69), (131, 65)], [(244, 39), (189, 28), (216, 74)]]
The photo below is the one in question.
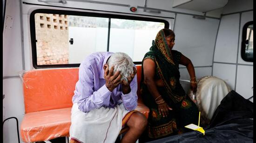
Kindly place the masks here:
[(150, 110), (146, 141), (187, 132), (184, 126), (198, 123), (199, 111), (179, 81), (179, 64), (187, 67), (194, 93), (195, 69), (189, 58), (172, 50), (174, 40), (172, 30), (160, 30), (142, 61), (141, 93)]

